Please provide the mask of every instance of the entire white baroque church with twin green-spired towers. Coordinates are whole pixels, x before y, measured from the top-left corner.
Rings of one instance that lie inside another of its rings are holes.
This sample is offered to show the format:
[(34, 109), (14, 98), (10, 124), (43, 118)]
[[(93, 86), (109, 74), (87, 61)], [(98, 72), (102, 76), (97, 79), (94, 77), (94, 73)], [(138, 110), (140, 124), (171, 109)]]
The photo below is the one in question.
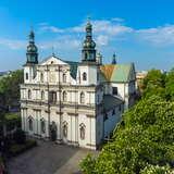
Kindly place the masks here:
[(79, 62), (54, 53), (38, 61), (35, 34), (29, 42), (21, 85), (22, 128), (28, 136), (96, 150), (110, 137), (123, 112), (135, 102), (133, 63), (102, 63), (86, 24)]

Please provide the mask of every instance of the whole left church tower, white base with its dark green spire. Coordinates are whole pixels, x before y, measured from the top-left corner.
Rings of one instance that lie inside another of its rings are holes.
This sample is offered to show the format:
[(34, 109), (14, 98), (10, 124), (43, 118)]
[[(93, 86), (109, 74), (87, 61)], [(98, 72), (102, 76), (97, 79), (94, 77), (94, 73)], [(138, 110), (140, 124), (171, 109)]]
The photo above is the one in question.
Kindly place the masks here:
[(34, 83), (36, 65), (38, 64), (38, 49), (35, 45), (35, 34), (30, 30), (26, 49), (26, 63), (24, 65), (24, 83)]

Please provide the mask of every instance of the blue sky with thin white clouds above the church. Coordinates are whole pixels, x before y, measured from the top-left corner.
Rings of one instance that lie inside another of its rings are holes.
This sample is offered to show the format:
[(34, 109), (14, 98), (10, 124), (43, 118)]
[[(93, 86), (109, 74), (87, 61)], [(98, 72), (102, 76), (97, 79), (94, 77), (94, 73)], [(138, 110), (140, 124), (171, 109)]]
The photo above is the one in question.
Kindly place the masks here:
[(116, 52), (119, 63), (137, 70), (174, 66), (173, 0), (1, 0), (0, 71), (25, 63), (27, 35), (36, 34), (39, 60), (51, 54), (80, 60), (84, 26), (90, 15), (103, 62)]

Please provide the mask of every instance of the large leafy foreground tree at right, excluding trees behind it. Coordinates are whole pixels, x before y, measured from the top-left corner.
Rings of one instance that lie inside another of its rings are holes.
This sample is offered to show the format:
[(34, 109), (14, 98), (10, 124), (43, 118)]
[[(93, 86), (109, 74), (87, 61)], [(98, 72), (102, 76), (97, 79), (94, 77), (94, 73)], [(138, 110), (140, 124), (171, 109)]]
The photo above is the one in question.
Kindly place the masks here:
[[(127, 111), (99, 157), (88, 160), (84, 173), (140, 173), (151, 165), (172, 167), (174, 161), (174, 103), (158, 96), (141, 99)], [(82, 164), (82, 170), (84, 165)]]

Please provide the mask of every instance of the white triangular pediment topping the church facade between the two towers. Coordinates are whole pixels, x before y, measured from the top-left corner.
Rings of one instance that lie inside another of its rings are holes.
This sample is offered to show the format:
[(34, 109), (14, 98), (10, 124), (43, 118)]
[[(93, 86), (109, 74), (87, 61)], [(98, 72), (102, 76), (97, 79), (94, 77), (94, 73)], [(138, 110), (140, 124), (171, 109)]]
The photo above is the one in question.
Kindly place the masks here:
[(54, 55), (51, 55), (47, 58), (46, 60), (44, 60), (42, 62), (40, 62), (40, 65), (50, 65), (50, 64), (65, 65), (67, 63)]

